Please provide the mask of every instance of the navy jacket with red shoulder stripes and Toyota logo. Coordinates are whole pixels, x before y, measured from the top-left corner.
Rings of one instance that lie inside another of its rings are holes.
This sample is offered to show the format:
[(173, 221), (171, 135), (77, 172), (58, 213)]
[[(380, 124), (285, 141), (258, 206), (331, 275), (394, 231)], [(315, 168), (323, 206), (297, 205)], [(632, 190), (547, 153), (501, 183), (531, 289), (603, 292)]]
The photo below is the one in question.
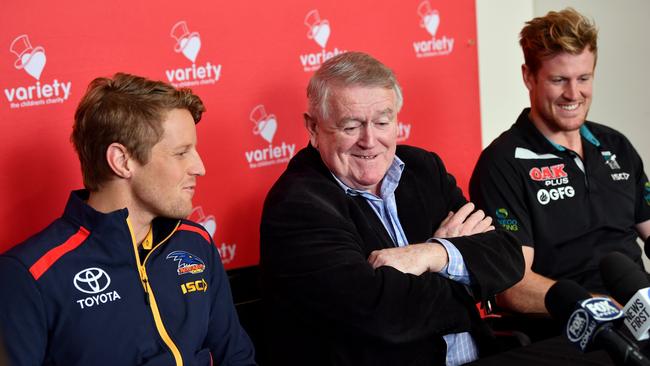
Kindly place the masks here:
[(0, 256), (11, 365), (254, 364), (200, 225), (154, 220), (141, 266), (127, 210), (97, 212), (84, 195), (73, 192), (61, 218)]

